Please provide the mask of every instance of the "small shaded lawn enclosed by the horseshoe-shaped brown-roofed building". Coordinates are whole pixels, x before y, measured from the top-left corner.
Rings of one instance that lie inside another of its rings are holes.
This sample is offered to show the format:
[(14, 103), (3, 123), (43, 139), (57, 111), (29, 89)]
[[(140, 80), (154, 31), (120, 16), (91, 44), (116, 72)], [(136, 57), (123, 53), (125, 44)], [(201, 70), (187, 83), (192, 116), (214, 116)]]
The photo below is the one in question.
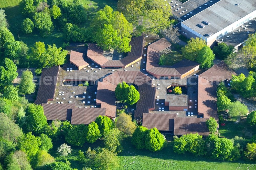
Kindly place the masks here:
[(178, 51), (171, 51), (160, 56), (164, 62), (164, 66), (172, 66), (181, 61), (183, 56)]

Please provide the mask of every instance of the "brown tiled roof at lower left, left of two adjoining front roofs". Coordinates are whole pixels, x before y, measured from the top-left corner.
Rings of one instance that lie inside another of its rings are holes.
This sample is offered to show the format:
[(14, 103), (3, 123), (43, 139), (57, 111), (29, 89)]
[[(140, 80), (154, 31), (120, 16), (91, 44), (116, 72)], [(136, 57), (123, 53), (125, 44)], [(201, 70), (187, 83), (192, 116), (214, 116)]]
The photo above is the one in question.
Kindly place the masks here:
[(71, 121), (72, 108), (75, 104), (47, 104), (42, 103), (47, 120)]

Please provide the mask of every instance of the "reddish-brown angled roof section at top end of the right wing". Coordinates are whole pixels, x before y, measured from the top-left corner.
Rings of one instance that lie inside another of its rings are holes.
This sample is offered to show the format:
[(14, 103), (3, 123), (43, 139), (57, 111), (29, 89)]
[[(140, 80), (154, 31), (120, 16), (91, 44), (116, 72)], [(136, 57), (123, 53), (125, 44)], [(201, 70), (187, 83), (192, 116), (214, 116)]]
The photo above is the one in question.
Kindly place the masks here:
[(232, 78), (232, 75), (237, 75), (236, 72), (228, 68), (228, 66), (224, 62), (220, 62), (202, 74), (200, 74), (201, 77), (205, 78), (209, 81), (224, 81), (224, 80), (230, 80)]

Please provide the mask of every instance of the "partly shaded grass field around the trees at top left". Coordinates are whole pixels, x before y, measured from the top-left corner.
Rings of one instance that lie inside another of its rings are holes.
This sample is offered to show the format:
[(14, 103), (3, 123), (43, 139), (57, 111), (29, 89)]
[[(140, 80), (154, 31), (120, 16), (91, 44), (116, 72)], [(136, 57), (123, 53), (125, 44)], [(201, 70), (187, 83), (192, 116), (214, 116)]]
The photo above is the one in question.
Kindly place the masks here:
[[(45, 44), (55, 43), (56, 46), (60, 47), (63, 44), (64, 39), (62, 32), (57, 28), (55, 28), (54, 32), (46, 38), (42, 38), (36, 31), (34, 31), (32, 35), (25, 35), (20, 31), (20, 25), (26, 18), (21, 13), (19, 6), (20, 1), (21, 0), (0, 0), (0, 8), (5, 10), (5, 14), (7, 15), (6, 18), (10, 25), (9, 30), (13, 33), (15, 39), (25, 42), (29, 47), (33, 46), (37, 41), (44, 42)], [(113, 9), (116, 9), (117, 3), (117, 1), (112, 0), (82, 0), (82, 2), (87, 11), (88, 19), (80, 25), (81, 27), (88, 27), (94, 14), (99, 9), (104, 8), (105, 5), (109, 5)]]

